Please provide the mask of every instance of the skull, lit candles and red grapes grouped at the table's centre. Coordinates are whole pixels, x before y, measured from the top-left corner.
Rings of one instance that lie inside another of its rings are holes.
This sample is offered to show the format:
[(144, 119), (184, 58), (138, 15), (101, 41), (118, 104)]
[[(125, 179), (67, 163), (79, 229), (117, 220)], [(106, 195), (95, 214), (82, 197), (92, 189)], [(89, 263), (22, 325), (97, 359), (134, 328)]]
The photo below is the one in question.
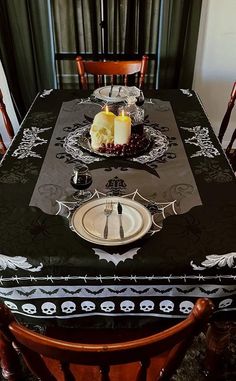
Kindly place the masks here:
[[(132, 119), (120, 110), (116, 116), (106, 106), (104, 111), (95, 115), (90, 128), (91, 147), (100, 154), (134, 156), (149, 145), (143, 125), (135, 128)], [(141, 127), (141, 128), (140, 128)]]

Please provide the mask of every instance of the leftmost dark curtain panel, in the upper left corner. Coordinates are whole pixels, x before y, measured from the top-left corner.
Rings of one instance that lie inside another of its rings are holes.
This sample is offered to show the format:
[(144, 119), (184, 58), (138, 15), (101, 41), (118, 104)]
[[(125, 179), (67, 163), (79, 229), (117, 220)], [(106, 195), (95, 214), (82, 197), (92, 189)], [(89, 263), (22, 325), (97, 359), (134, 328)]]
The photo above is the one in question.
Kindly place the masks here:
[(18, 116), (38, 91), (55, 87), (47, 0), (1, 0), (0, 56)]

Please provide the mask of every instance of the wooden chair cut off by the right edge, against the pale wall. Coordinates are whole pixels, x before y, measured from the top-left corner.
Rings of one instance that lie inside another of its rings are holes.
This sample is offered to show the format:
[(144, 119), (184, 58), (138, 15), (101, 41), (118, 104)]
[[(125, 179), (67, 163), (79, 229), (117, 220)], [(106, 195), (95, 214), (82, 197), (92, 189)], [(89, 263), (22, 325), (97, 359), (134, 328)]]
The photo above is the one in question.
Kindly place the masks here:
[[(230, 94), (230, 100), (229, 100), (229, 103), (227, 106), (227, 110), (226, 110), (226, 113), (224, 115), (224, 118), (223, 118), (221, 126), (220, 126), (220, 131), (219, 131), (219, 136), (218, 136), (220, 143), (222, 143), (224, 134), (225, 134), (226, 129), (228, 127), (230, 116), (231, 116), (231, 111), (234, 107), (235, 99), (236, 99), (236, 82), (234, 82), (234, 85), (233, 85), (233, 88), (232, 88), (232, 91)], [(225, 150), (226, 156), (228, 157), (229, 162), (230, 162), (234, 172), (236, 172), (236, 150), (232, 150), (232, 148), (233, 148), (233, 143), (235, 142), (235, 140), (236, 140), (236, 128), (235, 128), (235, 130), (231, 136), (230, 142), (229, 142), (229, 144)]]

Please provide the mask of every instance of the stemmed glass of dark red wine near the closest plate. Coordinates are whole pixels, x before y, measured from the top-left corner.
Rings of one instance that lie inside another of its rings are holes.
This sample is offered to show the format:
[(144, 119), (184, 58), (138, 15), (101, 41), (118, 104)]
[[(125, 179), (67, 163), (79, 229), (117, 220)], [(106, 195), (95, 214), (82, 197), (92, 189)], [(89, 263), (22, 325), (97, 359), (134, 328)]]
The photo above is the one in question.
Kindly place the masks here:
[(85, 201), (92, 197), (91, 191), (86, 191), (92, 184), (92, 175), (85, 164), (78, 164), (73, 168), (73, 175), (70, 183), (78, 191), (73, 194), (73, 198), (78, 201)]

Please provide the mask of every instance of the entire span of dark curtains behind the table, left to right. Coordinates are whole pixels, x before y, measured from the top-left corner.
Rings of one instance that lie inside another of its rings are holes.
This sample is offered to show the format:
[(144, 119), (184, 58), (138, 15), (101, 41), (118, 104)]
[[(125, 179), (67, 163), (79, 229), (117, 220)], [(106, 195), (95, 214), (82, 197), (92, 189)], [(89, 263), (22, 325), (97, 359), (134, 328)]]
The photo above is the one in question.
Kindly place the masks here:
[(147, 87), (191, 88), (201, 3), (1, 0), (0, 57), (18, 110), (24, 115), (38, 91), (57, 86), (55, 57), (60, 86), (78, 87), (77, 54), (148, 54)]

